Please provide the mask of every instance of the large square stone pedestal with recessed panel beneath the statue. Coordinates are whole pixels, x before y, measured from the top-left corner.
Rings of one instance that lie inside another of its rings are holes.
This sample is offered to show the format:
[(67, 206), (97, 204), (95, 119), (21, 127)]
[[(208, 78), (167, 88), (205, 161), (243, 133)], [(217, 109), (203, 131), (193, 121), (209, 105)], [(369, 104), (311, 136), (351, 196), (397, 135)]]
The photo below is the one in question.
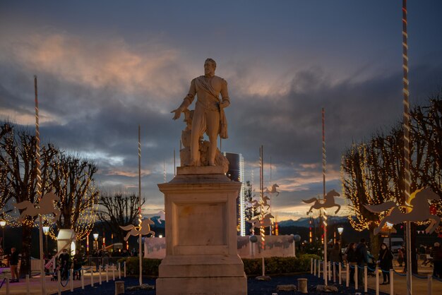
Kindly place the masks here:
[(222, 167), (178, 167), (158, 184), (165, 194), (166, 257), (157, 295), (246, 295), (237, 254), (237, 196), (241, 183)]

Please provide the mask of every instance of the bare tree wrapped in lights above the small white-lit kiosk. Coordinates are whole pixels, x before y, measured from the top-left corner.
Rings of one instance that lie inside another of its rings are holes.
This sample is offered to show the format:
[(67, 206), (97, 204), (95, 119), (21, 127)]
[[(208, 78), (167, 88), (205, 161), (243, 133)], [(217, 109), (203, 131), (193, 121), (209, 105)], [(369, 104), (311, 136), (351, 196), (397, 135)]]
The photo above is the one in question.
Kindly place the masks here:
[(59, 229), (73, 229), (76, 239), (85, 239), (95, 222), (99, 191), (95, 188), (97, 167), (86, 159), (60, 153), (52, 162), (51, 182), (59, 196), (61, 217), (49, 234), (55, 239)]

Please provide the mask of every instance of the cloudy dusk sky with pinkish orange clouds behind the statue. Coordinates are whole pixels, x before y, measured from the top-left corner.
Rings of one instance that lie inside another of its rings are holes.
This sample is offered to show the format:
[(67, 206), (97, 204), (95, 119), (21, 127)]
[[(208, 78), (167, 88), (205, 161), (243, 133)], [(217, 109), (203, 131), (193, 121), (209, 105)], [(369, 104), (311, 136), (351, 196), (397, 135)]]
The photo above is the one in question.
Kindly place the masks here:
[[(353, 140), (401, 120), (402, 1), (0, 0), (0, 116), (32, 128), (33, 76), (41, 135), (93, 159), (104, 191), (137, 191), (138, 124), (146, 213), (163, 207), (156, 183), (173, 176), (181, 104), (205, 58), (229, 85), (229, 139), (258, 184), (280, 184), (273, 212), (306, 216), (322, 192), (321, 107), (327, 188), (340, 191), (340, 157)], [(442, 1), (408, 1), (410, 100), (442, 83)], [(338, 200), (345, 204), (344, 199)], [(342, 214), (347, 213), (342, 210)]]

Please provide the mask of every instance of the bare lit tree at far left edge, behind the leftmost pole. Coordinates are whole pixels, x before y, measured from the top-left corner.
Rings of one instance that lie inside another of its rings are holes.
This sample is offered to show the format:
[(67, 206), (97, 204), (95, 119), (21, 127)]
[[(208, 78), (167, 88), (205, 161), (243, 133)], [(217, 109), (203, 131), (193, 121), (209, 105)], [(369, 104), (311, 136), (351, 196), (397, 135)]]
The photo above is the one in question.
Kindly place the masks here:
[[(14, 131), (11, 124), (4, 123), (0, 132), (0, 198), (4, 205), (10, 200), (16, 203), (25, 200), (37, 203), (37, 162), (35, 150), (37, 141), (28, 131)], [(49, 163), (58, 154), (52, 145), (43, 145), (40, 150), (42, 171), (42, 194), (50, 191), (49, 179), (52, 169)], [(13, 216), (6, 215), (8, 224), (21, 226), (23, 232), (22, 260), (20, 275), (30, 275), (31, 231), (35, 227), (32, 217), (27, 217), (21, 224), (13, 221)]]

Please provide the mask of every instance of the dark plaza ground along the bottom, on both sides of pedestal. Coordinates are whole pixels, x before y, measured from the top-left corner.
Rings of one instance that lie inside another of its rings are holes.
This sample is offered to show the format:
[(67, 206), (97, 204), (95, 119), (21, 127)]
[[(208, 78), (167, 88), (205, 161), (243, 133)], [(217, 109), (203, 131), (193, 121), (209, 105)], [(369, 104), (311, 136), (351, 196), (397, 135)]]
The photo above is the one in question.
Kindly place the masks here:
[[(396, 267), (396, 270), (400, 272), (399, 267)], [(431, 274), (432, 268), (431, 267), (423, 267), (419, 266), (419, 277), (426, 277), (427, 274)], [(4, 272), (4, 276), (8, 277), (8, 272)], [(121, 274), (122, 275), (122, 274)], [(305, 274), (305, 275), (287, 275), (287, 276), (275, 276), (272, 277), (272, 279), (269, 282), (263, 282), (258, 281), (254, 277), (249, 277), (247, 281), (247, 288), (248, 288), (248, 294), (249, 295), (271, 295), (273, 293), (277, 293), (278, 295), (285, 294), (285, 295), (291, 295), (291, 294), (300, 294), (299, 292), (293, 292), (293, 291), (276, 291), (276, 287), (279, 284), (297, 284), (297, 279), (299, 277), (305, 277), (308, 279), (309, 284), (309, 294), (321, 294), (317, 293), (314, 290), (316, 289), (316, 285), (323, 284), (323, 279), (318, 279), (318, 277)], [(58, 293), (58, 283), (52, 282), (50, 276), (46, 277), (47, 282), (47, 291), (48, 294), (57, 294)], [(81, 282), (78, 280), (73, 281), (73, 288), (74, 291), (70, 291), (70, 284), (68, 283), (66, 287), (62, 287), (61, 291), (62, 294), (68, 295), (68, 294), (75, 294), (75, 295), (85, 295), (85, 294), (106, 294), (111, 295), (114, 294), (115, 290), (115, 284), (112, 280), (112, 272), (109, 272), (109, 282), (105, 282), (105, 272), (102, 272), (102, 285), (98, 284), (99, 282), (99, 274), (94, 274), (94, 287), (90, 287), (90, 274), (88, 273), (85, 275), (85, 289), (81, 289)], [(116, 273), (115, 280), (120, 280), (118, 278), (118, 275)], [(125, 287), (129, 286), (136, 286), (138, 285), (138, 277), (121, 277), (121, 280), (124, 280)], [(338, 292), (335, 293), (327, 293), (327, 294), (355, 294), (356, 292), (361, 292), (364, 294), (359, 287), (359, 290), (355, 290), (353, 287), (346, 288), (345, 287), (345, 272), (342, 272), (342, 285), (333, 284), (333, 282), (329, 282), (329, 285), (334, 285), (338, 287)], [(381, 276), (380, 281), (382, 282)], [(151, 284), (155, 285), (155, 279), (143, 279), (144, 284)], [(375, 278), (369, 277), (368, 280), (368, 287), (369, 292), (367, 294), (375, 294)], [(394, 275), (394, 294), (407, 294), (406, 288), (406, 279), (405, 276), (401, 276), (398, 274)], [(442, 294), (442, 282), (433, 279), (433, 285), (432, 285), (432, 294)], [(22, 279), (18, 283), (12, 283), (10, 284), (10, 294), (20, 294), (25, 295), (26, 294), (26, 284), (25, 280)], [(214, 290), (216, 291), (216, 290)], [(380, 286), (381, 295), (382, 294), (389, 294), (390, 287), (388, 285), (381, 285)], [(413, 293), (414, 294), (427, 294), (427, 279), (419, 279), (417, 277), (413, 277)], [(3, 287), (0, 288), (0, 295), (6, 294), (6, 286), (3, 285)], [(40, 294), (40, 277), (32, 277), (30, 279), (30, 294)], [(155, 290), (143, 290), (143, 291), (125, 291), (125, 294), (155, 294)]]

